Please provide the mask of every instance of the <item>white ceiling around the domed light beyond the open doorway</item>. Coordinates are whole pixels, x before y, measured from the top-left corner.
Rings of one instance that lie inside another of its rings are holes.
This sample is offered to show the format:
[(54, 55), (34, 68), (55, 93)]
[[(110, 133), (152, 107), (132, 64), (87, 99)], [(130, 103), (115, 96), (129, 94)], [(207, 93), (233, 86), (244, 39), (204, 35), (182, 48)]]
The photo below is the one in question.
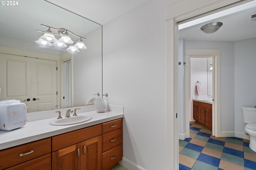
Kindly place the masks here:
[[(201, 41), (238, 41), (253, 38), (256, 37), (256, 21), (251, 21), (251, 16), (254, 14), (256, 14), (256, 0), (181, 24), (179, 38)], [(215, 33), (204, 33), (200, 28), (211, 22), (222, 22), (223, 25)]]

